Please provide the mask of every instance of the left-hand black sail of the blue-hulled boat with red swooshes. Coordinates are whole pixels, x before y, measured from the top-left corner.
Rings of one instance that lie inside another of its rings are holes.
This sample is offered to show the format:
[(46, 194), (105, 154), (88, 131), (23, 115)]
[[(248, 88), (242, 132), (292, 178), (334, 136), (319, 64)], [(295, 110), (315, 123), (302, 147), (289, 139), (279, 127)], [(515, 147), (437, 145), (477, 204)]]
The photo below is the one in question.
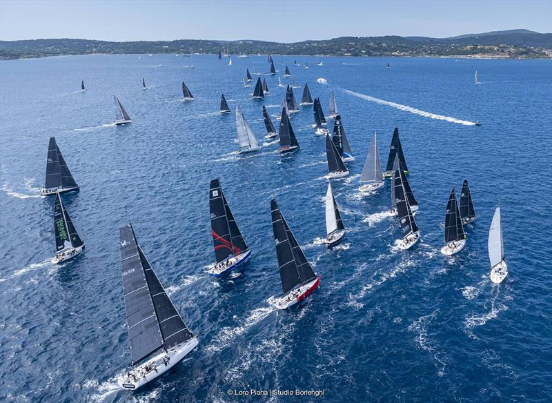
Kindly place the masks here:
[(209, 188), (209, 210), (211, 221), (211, 234), (217, 263), (234, 254), (230, 226), (224, 206), (224, 195), (220, 187), (219, 179), (213, 179)]

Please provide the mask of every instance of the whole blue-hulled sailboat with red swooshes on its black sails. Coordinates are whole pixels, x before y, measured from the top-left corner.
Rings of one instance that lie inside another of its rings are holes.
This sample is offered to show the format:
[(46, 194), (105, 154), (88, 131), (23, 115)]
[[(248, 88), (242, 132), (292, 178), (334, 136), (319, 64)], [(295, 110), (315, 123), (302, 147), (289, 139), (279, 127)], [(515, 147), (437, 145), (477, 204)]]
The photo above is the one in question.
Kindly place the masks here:
[(220, 276), (245, 263), (251, 256), (251, 250), (239, 232), (219, 179), (213, 179), (210, 184), (209, 210), (217, 263), (211, 266), (207, 273)]

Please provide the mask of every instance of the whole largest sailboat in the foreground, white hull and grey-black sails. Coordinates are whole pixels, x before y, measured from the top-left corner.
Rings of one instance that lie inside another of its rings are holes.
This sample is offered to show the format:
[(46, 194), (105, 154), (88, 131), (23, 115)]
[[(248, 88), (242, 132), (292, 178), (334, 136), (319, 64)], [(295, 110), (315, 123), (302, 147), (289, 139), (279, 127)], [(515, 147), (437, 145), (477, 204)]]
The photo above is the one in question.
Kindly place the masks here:
[(178, 364), (198, 344), (141, 250), (132, 225), (119, 228), (132, 369), (117, 383), (134, 391)]

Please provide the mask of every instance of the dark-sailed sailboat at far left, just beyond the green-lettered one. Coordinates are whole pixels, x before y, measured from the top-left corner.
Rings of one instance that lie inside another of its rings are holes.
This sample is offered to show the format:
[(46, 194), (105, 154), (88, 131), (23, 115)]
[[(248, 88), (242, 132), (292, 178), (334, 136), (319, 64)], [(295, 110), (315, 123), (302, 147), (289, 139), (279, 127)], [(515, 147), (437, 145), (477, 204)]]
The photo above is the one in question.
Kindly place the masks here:
[(73, 179), (61, 151), (56, 144), (56, 138), (50, 137), (48, 142), (48, 156), (46, 157), (46, 181), (40, 190), (42, 196), (66, 193), (79, 190), (79, 185)]

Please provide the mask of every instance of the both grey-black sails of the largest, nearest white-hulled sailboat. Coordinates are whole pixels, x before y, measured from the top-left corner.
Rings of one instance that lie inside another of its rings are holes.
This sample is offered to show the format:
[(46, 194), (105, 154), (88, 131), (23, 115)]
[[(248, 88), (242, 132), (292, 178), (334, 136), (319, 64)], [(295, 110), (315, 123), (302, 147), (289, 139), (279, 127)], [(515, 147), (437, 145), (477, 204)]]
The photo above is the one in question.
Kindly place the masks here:
[(130, 355), (135, 365), (160, 348), (168, 351), (194, 335), (159, 282), (130, 224), (119, 228), (119, 246)]

